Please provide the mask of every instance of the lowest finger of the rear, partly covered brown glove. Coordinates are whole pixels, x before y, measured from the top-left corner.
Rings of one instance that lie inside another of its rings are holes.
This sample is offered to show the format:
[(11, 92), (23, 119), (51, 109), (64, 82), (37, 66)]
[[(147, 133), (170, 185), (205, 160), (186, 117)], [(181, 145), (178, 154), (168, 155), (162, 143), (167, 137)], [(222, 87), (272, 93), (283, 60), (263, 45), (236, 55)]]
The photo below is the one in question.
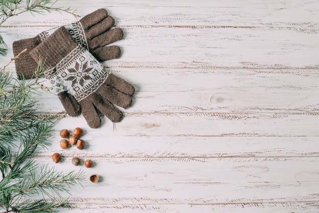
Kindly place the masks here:
[(91, 51), (92, 55), (98, 61), (107, 61), (111, 59), (119, 58), (121, 55), (121, 49), (118, 46), (103, 46)]

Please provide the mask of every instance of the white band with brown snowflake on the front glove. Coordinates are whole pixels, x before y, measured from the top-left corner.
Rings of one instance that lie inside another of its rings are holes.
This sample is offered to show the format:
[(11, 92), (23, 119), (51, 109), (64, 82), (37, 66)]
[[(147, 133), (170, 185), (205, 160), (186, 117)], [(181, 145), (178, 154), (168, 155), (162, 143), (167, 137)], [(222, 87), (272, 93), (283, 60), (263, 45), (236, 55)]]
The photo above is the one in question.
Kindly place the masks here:
[(78, 44), (56, 66), (56, 72), (48, 77), (56, 92), (68, 91), (76, 101), (82, 101), (95, 92), (109, 72)]

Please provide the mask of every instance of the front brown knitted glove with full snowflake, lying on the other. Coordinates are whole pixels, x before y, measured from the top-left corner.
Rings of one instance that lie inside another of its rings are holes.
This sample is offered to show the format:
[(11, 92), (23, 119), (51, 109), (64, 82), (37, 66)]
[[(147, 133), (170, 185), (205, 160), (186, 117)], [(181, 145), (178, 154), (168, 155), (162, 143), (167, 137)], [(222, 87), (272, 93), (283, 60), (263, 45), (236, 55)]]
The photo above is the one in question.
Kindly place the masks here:
[[(59, 97), (63, 94), (62, 103), (65, 97), (74, 97), (91, 128), (101, 124), (96, 109), (112, 122), (119, 122), (123, 114), (113, 104), (123, 108), (131, 105), (134, 87), (105, 70), (64, 27), (30, 51), (30, 56), (35, 61), (45, 59), (45, 68), (53, 67), (46, 73), (46, 78), (55, 86)], [(64, 107), (69, 110), (69, 106)]]

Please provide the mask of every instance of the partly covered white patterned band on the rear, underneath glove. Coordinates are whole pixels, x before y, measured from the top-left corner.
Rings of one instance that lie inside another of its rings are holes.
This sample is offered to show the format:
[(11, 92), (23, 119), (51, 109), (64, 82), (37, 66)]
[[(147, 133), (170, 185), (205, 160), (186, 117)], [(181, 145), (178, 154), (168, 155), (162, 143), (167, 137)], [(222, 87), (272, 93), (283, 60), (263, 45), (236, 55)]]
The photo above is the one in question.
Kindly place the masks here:
[[(74, 23), (71, 23), (70, 25), (65, 25), (64, 27), (69, 31), (69, 33), (76, 40), (77, 43), (81, 44), (85, 49), (89, 50), (88, 41), (81, 22), (76, 21)], [(59, 28), (60, 27), (55, 27), (40, 33), (39, 36), (41, 38), (41, 41), (46, 39), (49, 35), (54, 33)]]

